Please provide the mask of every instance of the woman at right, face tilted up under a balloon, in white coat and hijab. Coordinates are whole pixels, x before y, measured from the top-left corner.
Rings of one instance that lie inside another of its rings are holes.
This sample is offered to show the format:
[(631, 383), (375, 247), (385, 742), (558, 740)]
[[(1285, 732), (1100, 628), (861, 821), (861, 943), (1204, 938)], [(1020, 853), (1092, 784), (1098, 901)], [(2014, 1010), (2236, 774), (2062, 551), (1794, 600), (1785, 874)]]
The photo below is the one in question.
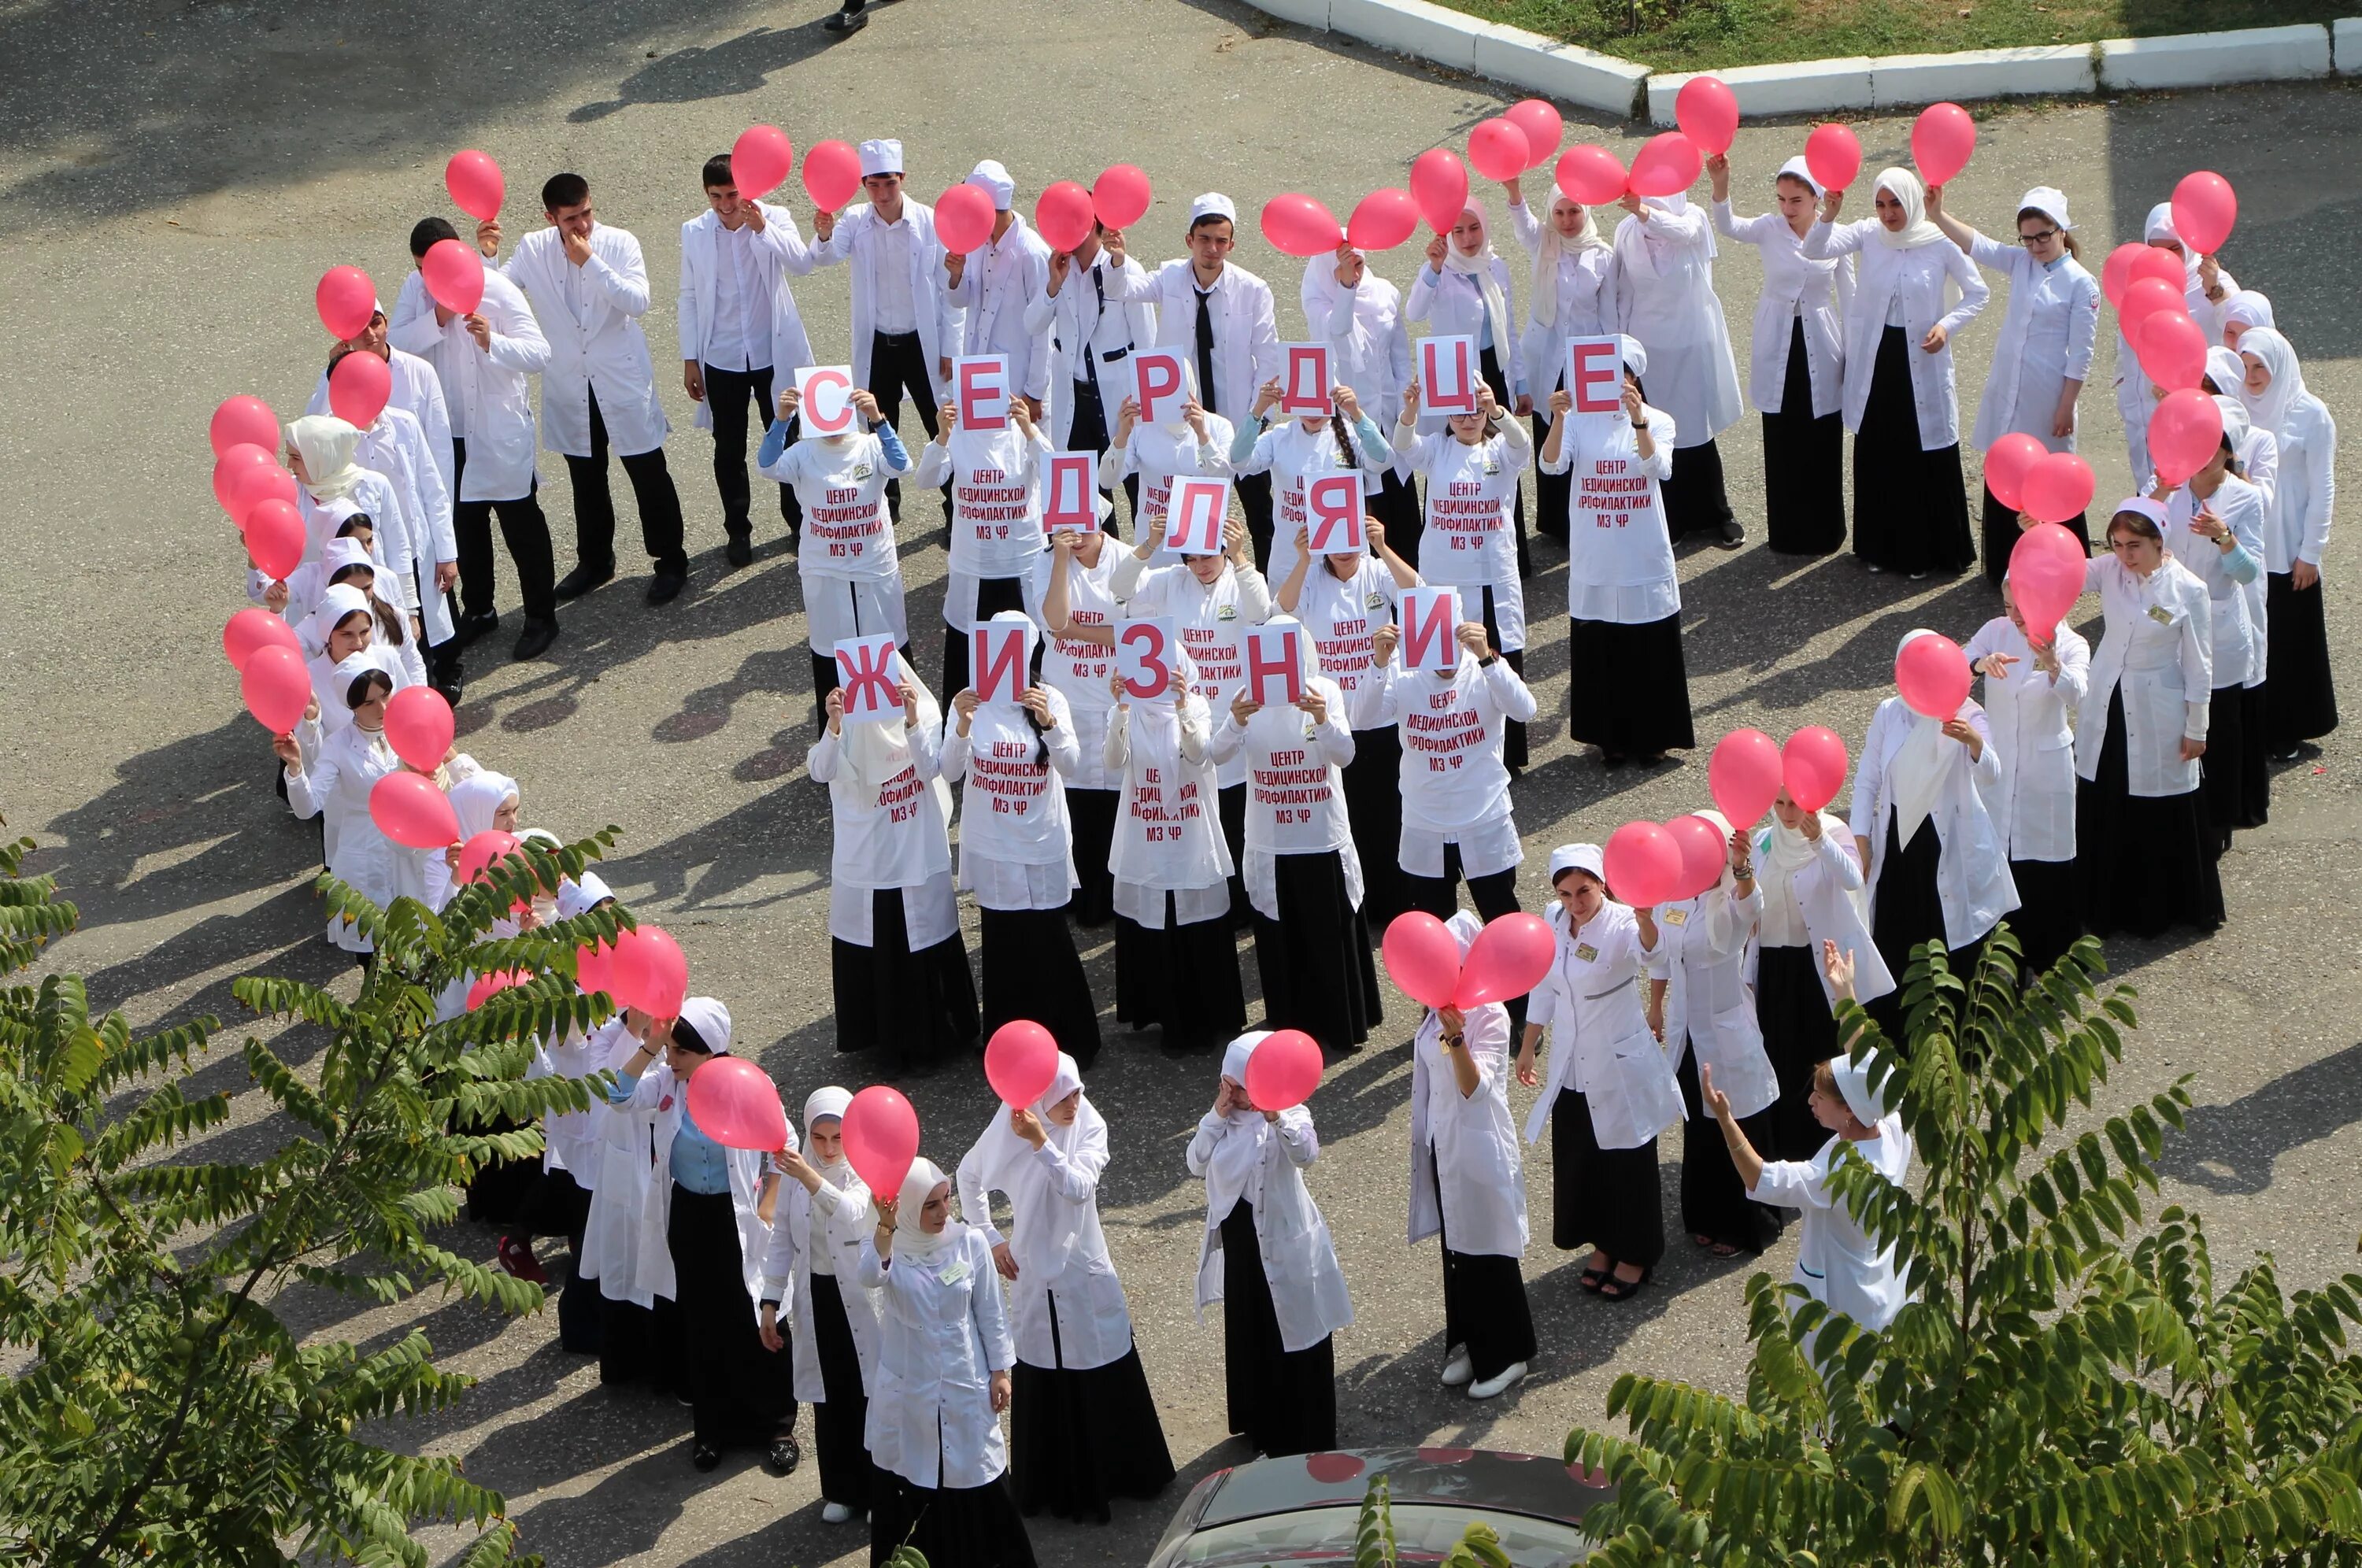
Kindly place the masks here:
[(1984, 720), (2001, 763), (1989, 808), (2017, 883), (2010, 930), (2031, 980), (2083, 935), (2074, 897), (2074, 718), (2090, 687), (2090, 642), (2067, 621), (2048, 642), (2034, 642), (2008, 581), (2001, 605), (2005, 614), (1979, 626), (1960, 652), (1984, 678)]

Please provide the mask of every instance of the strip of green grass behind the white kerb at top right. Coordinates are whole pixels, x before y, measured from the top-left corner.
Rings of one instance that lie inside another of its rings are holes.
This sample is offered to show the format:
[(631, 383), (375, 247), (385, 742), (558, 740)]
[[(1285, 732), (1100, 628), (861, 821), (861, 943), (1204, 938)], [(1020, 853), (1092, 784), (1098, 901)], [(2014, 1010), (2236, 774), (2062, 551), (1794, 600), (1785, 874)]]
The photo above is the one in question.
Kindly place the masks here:
[[(2331, 21), (2355, 0), (1441, 0), (1653, 71)], [(1639, 28), (1632, 17), (1639, 14)]]

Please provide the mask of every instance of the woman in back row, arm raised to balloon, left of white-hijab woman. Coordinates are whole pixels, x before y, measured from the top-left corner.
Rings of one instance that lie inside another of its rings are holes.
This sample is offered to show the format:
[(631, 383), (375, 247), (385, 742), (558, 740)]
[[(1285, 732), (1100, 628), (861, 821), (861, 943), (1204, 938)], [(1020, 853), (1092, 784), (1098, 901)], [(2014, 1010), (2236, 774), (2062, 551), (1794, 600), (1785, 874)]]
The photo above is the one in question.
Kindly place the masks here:
[[(1828, 555), (1845, 545), (1845, 300), (1854, 269), (1805, 257), (1821, 182), (1805, 158), (1772, 177), (1776, 210), (1731, 213), (1731, 161), (1705, 161), (1715, 187), (1715, 234), (1755, 246), (1764, 290), (1755, 300), (1748, 401), (1764, 420), (1764, 543), (1781, 555)], [(1715, 1155), (1722, 1157), (1720, 1152)]]

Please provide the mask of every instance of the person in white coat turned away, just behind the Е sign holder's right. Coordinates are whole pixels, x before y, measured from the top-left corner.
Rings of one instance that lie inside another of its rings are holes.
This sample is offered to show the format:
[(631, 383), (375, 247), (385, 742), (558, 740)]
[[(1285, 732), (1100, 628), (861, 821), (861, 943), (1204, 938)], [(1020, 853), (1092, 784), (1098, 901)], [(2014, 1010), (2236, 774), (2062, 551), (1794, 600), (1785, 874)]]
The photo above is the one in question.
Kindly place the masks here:
[[(1625, 196), (1616, 224), (1616, 331), (1639, 338), (1656, 366), (1656, 406), (1672, 416), (1677, 439), (1665, 482), (1672, 538), (1705, 536), (1722, 550), (1746, 543), (1722, 484), (1715, 437), (1738, 423), (1738, 366), (1731, 328), (1715, 293), (1715, 229), (1689, 196)], [(1644, 390), (1644, 397), (1651, 397)]]

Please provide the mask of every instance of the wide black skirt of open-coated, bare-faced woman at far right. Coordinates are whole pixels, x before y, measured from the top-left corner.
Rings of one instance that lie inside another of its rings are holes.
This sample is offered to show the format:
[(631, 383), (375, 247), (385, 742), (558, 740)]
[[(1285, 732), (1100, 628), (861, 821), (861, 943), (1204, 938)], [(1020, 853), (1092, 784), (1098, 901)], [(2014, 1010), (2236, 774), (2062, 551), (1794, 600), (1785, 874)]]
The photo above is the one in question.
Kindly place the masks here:
[[(2171, 741), (2168, 741), (2171, 744)], [(2074, 789), (2074, 864), (2083, 921), (2097, 937), (2157, 937), (2223, 926), (2223, 876), (2206, 850), (2201, 791), (2135, 796), (2126, 767), (2123, 692), (2107, 697), (2097, 777)]]

